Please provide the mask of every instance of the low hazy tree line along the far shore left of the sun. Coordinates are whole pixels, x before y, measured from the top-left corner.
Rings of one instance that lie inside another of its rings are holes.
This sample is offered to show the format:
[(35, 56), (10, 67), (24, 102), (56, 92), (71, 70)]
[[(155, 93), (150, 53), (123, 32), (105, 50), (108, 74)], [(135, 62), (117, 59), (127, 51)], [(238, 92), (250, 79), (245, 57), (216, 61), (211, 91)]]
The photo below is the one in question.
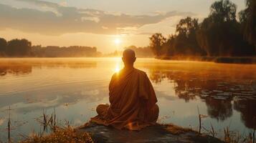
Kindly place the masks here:
[(0, 38), (0, 57), (75, 57), (100, 56), (96, 47), (90, 46), (32, 46), (27, 39)]

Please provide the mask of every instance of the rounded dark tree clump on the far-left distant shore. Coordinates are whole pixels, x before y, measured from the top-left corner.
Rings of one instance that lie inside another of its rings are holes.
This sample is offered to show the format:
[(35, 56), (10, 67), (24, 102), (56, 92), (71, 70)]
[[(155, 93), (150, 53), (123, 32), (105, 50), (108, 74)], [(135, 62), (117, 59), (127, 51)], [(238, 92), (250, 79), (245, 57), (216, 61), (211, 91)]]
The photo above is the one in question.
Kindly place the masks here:
[(12, 39), (7, 42), (6, 54), (8, 56), (30, 56), (32, 44), (27, 39)]

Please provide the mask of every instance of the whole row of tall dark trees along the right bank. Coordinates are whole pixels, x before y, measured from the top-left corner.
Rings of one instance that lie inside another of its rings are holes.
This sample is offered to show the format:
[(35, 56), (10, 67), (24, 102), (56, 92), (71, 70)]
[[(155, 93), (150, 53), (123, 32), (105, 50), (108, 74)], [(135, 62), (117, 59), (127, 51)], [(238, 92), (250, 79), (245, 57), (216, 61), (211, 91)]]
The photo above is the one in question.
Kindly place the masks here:
[(229, 0), (215, 1), (201, 23), (186, 17), (168, 38), (161, 33), (150, 37), (150, 48), (158, 58), (171, 56), (255, 56), (256, 1), (246, 0), (239, 12)]

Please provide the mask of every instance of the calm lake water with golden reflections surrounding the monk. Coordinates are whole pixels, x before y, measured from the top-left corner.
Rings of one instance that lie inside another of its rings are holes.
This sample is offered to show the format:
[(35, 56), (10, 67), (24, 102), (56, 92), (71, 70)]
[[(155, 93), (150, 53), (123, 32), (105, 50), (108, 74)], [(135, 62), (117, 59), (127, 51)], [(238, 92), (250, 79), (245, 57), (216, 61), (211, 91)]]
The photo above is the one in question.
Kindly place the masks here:
[[(11, 137), (40, 132), (43, 109), (74, 126), (108, 103), (108, 83), (120, 59), (0, 59), (0, 139), (6, 142), (9, 106)], [(198, 129), (198, 111), (222, 137), (223, 128), (247, 134), (256, 117), (256, 65), (138, 59), (158, 97), (160, 123)], [(204, 131), (204, 129), (203, 129)]]

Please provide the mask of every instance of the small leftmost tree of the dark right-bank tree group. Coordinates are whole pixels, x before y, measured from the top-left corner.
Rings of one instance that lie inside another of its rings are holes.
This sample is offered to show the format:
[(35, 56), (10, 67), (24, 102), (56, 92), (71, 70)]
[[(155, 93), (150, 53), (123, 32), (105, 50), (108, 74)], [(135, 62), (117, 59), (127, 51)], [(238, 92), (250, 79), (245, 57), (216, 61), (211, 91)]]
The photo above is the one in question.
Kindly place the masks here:
[(161, 56), (163, 49), (163, 44), (166, 43), (166, 38), (159, 33), (153, 34), (150, 38), (150, 48), (153, 51), (153, 54), (156, 56)]

